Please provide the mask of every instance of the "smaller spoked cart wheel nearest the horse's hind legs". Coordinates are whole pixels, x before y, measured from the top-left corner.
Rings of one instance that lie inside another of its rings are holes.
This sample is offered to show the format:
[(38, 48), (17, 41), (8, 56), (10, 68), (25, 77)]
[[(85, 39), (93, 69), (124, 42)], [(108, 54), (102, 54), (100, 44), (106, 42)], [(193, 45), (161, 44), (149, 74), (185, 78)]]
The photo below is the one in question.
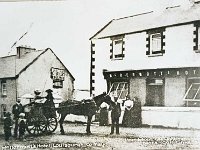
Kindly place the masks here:
[(46, 133), (53, 133), (56, 128), (58, 126), (58, 121), (56, 119), (56, 117), (52, 117), (52, 118), (47, 118), (47, 123), (46, 123)]

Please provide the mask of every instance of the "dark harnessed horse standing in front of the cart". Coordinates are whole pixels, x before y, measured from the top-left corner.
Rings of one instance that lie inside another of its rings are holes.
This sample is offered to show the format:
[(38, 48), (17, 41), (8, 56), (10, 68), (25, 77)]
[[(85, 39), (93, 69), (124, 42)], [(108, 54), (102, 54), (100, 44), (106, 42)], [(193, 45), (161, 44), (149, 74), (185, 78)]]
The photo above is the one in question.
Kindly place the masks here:
[(61, 115), (59, 120), (61, 134), (65, 134), (63, 122), (68, 114), (87, 116), (86, 133), (91, 134), (90, 125), (92, 116), (96, 114), (96, 111), (99, 109), (100, 105), (106, 101), (110, 102), (111, 99), (110, 97), (106, 96), (106, 93), (103, 93), (93, 97), (92, 99), (82, 100), (81, 102), (68, 100), (60, 103), (57, 112)]

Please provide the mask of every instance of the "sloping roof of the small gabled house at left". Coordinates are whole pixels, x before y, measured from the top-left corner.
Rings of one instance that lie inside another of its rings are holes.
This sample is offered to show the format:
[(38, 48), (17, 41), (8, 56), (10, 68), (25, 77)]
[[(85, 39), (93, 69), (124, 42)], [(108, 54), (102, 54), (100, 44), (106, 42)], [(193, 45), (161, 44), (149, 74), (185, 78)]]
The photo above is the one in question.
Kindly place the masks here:
[[(0, 57), (0, 68), (1, 68), (0, 78), (15, 78), (21, 72), (23, 72), (26, 68), (28, 68), (32, 63), (34, 63), (47, 50), (51, 50), (51, 49), (47, 48), (45, 50), (35, 50), (32, 52), (26, 53), (25, 54), (26, 56), (23, 56), (20, 59), (16, 55)], [(55, 55), (53, 51), (52, 53)], [(60, 61), (60, 59), (57, 56), (56, 58)], [(63, 63), (62, 65), (65, 67)], [(75, 80), (72, 74), (69, 72), (69, 70), (66, 67), (65, 69), (71, 75), (73, 80)]]

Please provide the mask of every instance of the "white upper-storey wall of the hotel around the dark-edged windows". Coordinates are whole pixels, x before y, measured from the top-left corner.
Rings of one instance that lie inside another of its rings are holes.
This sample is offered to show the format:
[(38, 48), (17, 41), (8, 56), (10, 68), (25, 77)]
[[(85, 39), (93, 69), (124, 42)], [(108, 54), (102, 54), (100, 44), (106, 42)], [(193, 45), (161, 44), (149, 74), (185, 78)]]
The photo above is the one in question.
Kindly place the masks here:
[(200, 53), (193, 50), (193, 24), (174, 26), (165, 29), (165, 54), (148, 57), (146, 55), (146, 32), (125, 36), (125, 57), (123, 60), (110, 60), (111, 40), (93, 40), (95, 43), (95, 94), (106, 90), (102, 70), (156, 69), (174, 67), (194, 67), (200, 64)]

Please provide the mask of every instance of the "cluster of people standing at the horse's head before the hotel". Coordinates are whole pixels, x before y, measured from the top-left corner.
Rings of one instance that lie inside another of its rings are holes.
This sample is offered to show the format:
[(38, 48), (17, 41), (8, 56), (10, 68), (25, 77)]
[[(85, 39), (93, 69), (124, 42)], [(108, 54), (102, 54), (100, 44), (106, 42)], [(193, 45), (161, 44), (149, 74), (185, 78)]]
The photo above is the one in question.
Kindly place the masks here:
[[(118, 96), (112, 93), (110, 97), (114, 102), (112, 105), (108, 106), (104, 103), (101, 105), (99, 118), (101, 126), (109, 124), (109, 112), (111, 112), (111, 135), (114, 134), (115, 129), (116, 134), (119, 134), (119, 122), (124, 127), (141, 126), (141, 103), (137, 97), (130, 99), (127, 95), (125, 99), (118, 99)], [(122, 121), (120, 121), (121, 119)]]

